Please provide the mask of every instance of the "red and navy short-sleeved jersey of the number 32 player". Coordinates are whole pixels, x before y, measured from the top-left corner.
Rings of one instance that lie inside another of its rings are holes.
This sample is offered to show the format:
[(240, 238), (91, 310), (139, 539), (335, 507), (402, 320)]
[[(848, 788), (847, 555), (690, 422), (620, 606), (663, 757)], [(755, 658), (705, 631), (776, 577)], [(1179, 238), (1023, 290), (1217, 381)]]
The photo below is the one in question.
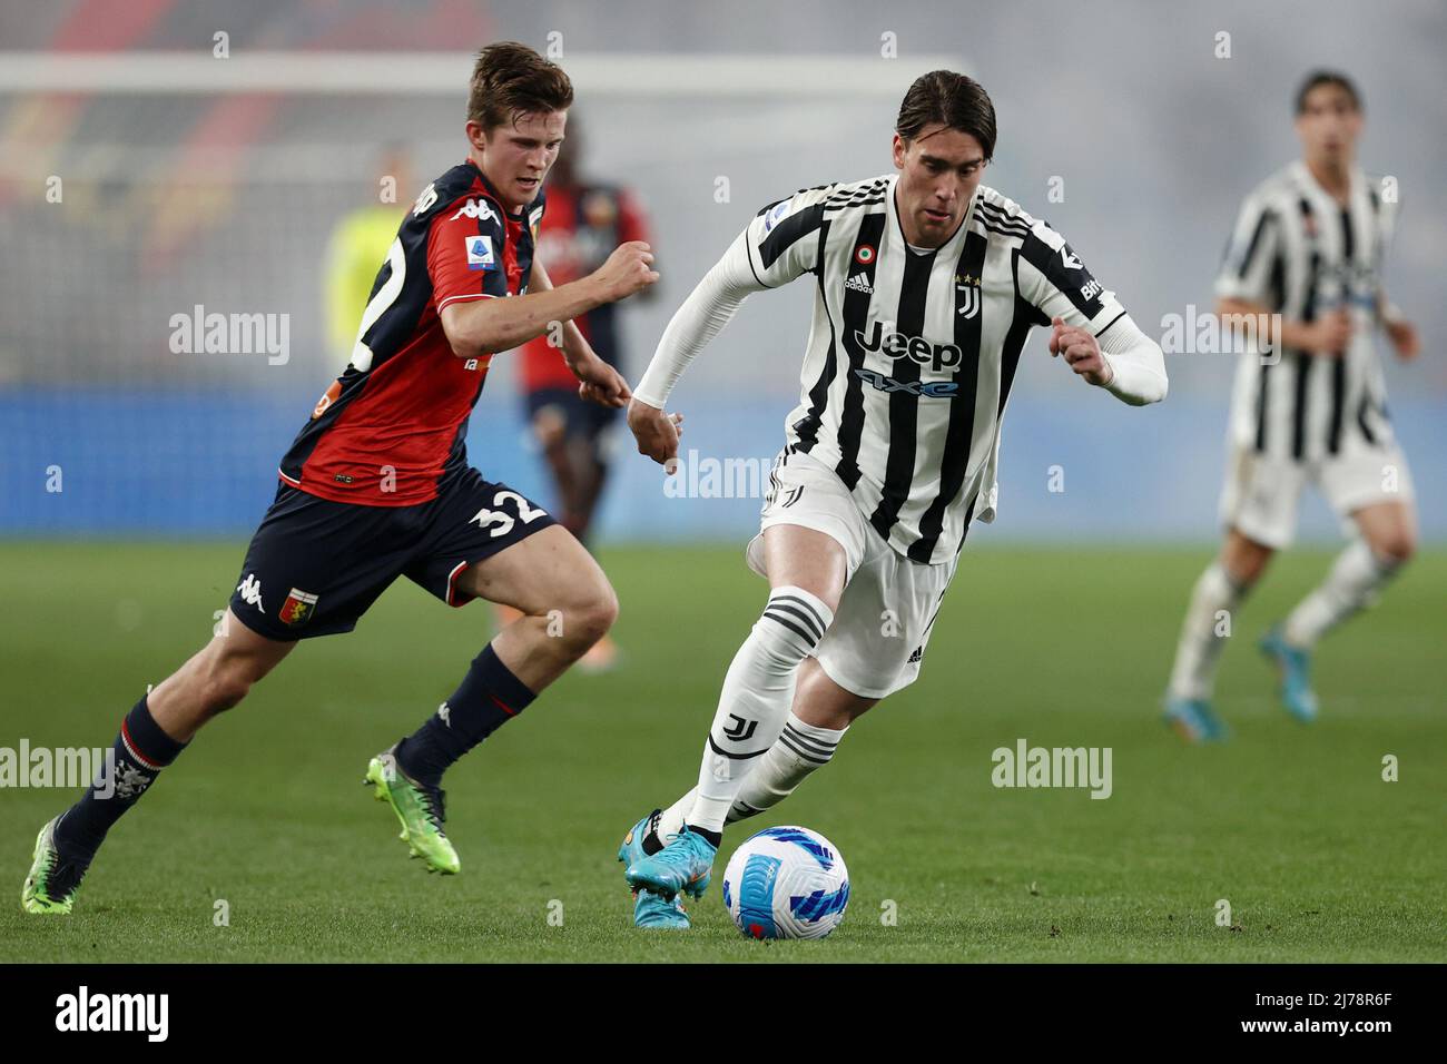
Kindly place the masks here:
[(281, 478), (336, 502), (410, 507), (467, 468), (467, 418), (492, 355), (462, 359), (441, 308), (522, 295), (544, 197), (508, 214), (472, 162), (418, 197), (372, 284), (352, 362), (317, 402)]

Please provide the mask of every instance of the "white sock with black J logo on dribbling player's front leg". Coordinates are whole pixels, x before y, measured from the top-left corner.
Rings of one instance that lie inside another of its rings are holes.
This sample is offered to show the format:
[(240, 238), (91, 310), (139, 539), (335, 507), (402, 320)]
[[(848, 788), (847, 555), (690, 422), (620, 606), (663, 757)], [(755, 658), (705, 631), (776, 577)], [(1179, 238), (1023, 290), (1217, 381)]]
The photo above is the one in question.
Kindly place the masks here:
[(823, 638), (833, 611), (803, 588), (774, 588), (764, 615), (734, 656), (713, 715), (697, 795), (686, 822), (722, 831), (744, 780), (783, 731), (799, 663)]

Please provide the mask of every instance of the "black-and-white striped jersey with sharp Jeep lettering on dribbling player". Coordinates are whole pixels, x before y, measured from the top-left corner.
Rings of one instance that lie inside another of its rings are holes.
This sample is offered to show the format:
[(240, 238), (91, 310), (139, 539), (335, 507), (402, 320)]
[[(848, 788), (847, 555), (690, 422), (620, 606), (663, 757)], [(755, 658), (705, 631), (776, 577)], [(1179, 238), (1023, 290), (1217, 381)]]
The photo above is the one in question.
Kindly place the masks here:
[(897, 175), (823, 185), (745, 230), (757, 282), (818, 285), (787, 439), (832, 466), (870, 524), (916, 562), (949, 562), (994, 518), (1000, 421), (1032, 326), (1100, 336), (1126, 311), (1046, 223), (980, 187), (954, 237), (912, 249)]

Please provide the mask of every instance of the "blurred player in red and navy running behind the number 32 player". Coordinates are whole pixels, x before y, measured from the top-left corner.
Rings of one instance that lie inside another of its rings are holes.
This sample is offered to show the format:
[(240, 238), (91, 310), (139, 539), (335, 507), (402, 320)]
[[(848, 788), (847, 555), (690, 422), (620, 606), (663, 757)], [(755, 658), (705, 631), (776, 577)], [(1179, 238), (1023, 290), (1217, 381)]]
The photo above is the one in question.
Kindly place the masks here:
[[(547, 229), (538, 255), (547, 262), (553, 284), (569, 284), (598, 269), (614, 248), (629, 240), (648, 242), (647, 220), (638, 201), (618, 185), (598, 184), (579, 174), (583, 142), (576, 114), (569, 116), (567, 140), (547, 180)], [(644, 290), (640, 298), (651, 297)], [(621, 336), (618, 307), (605, 303), (573, 320), (603, 362), (618, 366)], [(577, 378), (567, 368), (554, 336), (544, 333), (522, 349), (518, 366), (527, 417), (538, 449), (553, 475), (561, 512), (557, 520), (587, 544), (598, 499), (608, 476), (615, 407), (586, 402)], [(506, 617), (506, 611), (502, 611)], [(579, 664), (608, 669), (616, 657), (611, 636), (603, 636)]]

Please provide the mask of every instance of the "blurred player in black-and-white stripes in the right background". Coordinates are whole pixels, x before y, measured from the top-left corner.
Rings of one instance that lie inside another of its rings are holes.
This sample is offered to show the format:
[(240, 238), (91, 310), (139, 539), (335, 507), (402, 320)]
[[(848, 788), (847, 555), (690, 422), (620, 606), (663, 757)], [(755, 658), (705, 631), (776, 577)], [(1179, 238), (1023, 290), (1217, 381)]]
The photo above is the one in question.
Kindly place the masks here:
[(1191, 594), (1166, 691), (1165, 719), (1192, 743), (1227, 735), (1211, 706), (1223, 618), (1291, 544), (1305, 485), (1321, 489), (1351, 540), (1260, 643), (1297, 719), (1317, 717), (1317, 640), (1370, 605), (1415, 549), (1412, 479), (1372, 333), (1385, 329), (1402, 359), (1417, 356), (1418, 340), (1382, 290), (1396, 203), (1357, 166), (1362, 122), (1350, 80), (1307, 77), (1297, 93), (1302, 158), (1246, 197), (1215, 282), (1217, 313), (1276, 314), (1279, 334), (1240, 356), (1221, 492), (1226, 543)]

